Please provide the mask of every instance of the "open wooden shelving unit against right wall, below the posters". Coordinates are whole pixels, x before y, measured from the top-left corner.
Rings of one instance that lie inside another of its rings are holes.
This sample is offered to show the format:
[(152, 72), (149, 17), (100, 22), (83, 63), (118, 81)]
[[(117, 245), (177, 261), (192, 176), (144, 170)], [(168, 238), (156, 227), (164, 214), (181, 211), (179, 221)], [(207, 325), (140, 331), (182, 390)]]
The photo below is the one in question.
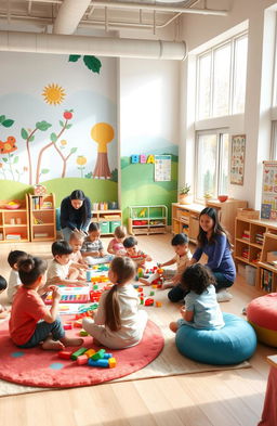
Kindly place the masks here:
[(266, 293), (277, 291), (277, 268), (267, 261), (271, 251), (277, 251), (277, 223), (236, 219), (235, 260), (256, 268), (255, 286)]

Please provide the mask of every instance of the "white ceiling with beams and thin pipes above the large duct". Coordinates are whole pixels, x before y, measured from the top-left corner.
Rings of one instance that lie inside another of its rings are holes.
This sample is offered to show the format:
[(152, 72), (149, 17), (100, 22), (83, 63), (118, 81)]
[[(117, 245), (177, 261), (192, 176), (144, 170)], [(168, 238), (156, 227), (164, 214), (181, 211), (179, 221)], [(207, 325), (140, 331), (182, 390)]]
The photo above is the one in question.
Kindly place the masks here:
[[(76, 34), (166, 28), (187, 13), (224, 15), (200, 0), (0, 0), (0, 29)], [(24, 29), (22, 29), (24, 28)]]

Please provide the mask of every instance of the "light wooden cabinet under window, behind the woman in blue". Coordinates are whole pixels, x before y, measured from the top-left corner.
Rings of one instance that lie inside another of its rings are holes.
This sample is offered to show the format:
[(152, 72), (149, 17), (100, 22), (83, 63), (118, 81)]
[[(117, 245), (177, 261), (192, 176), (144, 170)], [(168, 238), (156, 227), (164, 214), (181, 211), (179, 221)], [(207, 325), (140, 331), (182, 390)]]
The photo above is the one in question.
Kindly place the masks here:
[(235, 235), (235, 218), (239, 207), (246, 208), (247, 202), (229, 198), (224, 203), (209, 201), (207, 206), (201, 204), (172, 204), (172, 232), (177, 234), (185, 232), (192, 243), (196, 243), (199, 232), (199, 214), (205, 207), (213, 207), (217, 210), (221, 223), (228, 231), (230, 241)]

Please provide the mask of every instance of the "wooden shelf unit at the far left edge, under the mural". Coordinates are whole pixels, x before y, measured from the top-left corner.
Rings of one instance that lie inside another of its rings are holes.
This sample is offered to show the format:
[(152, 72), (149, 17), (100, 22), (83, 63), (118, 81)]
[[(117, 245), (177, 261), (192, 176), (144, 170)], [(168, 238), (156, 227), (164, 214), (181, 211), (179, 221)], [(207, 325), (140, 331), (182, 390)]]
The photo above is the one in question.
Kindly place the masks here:
[(0, 243), (29, 241), (28, 196), (13, 199), (14, 205), (18, 205), (16, 209), (8, 209), (8, 203), (11, 201), (0, 202)]

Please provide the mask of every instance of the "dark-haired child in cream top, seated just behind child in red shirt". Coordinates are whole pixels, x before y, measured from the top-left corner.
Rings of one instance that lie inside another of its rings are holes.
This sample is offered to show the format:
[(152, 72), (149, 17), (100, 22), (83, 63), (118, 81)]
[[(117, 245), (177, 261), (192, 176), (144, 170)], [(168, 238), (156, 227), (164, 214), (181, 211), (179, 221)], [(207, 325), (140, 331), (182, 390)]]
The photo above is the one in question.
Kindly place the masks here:
[(52, 244), (54, 259), (48, 269), (47, 286), (52, 284), (74, 286), (83, 284), (84, 279), (79, 277), (79, 269), (71, 268), (71, 254), (72, 248), (67, 241), (60, 240)]

